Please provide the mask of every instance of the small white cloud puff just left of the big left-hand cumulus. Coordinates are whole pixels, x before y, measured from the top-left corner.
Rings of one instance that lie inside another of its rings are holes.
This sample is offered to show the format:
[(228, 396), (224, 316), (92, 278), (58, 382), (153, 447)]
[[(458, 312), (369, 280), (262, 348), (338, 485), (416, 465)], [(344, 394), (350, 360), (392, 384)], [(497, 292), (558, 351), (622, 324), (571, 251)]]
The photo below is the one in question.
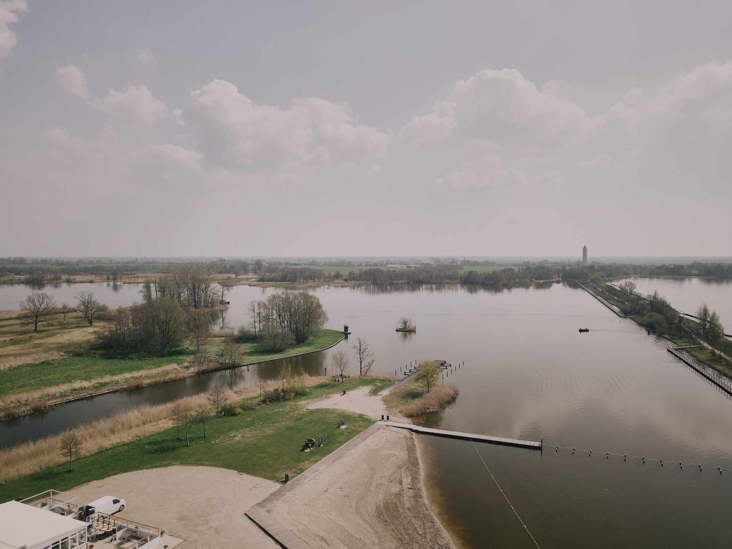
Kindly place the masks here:
[(145, 84), (139, 87), (130, 84), (124, 91), (110, 89), (107, 97), (95, 98), (90, 105), (102, 113), (123, 119), (125, 124), (138, 130), (149, 130), (155, 120), (168, 118), (168, 107), (152, 97)]

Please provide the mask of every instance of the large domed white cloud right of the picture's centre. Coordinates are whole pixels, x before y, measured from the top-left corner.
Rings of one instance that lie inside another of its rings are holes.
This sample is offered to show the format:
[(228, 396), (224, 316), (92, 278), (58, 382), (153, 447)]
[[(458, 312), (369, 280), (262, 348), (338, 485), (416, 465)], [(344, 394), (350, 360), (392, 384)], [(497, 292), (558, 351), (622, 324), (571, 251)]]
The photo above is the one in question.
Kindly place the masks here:
[(518, 70), (482, 70), (458, 81), (433, 112), (414, 116), (400, 140), (436, 145), (453, 138), (501, 149), (564, 146), (600, 124), (565, 98), (556, 82), (537, 89)]

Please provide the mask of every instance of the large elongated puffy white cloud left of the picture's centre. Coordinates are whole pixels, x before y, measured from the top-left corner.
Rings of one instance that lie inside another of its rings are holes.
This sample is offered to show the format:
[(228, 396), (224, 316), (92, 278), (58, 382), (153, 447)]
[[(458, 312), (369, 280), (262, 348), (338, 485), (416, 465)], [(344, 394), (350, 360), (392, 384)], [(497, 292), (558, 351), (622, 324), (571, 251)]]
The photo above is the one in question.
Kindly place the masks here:
[(182, 119), (201, 139), (206, 163), (244, 171), (296, 171), (381, 158), (391, 135), (354, 124), (348, 105), (310, 97), (287, 109), (256, 105), (231, 83), (193, 91)]

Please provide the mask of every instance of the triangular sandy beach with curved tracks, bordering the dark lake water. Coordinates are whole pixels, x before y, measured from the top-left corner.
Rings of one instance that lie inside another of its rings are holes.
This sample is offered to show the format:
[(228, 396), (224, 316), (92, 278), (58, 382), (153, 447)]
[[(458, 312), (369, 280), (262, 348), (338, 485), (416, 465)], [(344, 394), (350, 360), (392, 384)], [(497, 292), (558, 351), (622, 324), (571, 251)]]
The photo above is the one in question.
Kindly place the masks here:
[(412, 433), (383, 427), (270, 515), (313, 548), (454, 548), (427, 509)]

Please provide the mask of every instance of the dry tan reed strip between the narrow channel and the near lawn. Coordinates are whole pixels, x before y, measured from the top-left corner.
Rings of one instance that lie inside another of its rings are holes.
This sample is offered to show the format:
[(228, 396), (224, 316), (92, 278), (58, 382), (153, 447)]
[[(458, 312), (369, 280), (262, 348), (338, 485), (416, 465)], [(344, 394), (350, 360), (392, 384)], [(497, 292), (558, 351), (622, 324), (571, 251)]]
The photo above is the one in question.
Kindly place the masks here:
[[(296, 378), (296, 381), (307, 386), (313, 386), (321, 384), (324, 378), (305, 375)], [(280, 386), (281, 383), (281, 380), (266, 381), (261, 389), (263, 392), (269, 391), (276, 386)], [(225, 403), (230, 406), (241, 403), (242, 400), (257, 397), (259, 392), (260, 387), (258, 384), (239, 384), (234, 386), (234, 389), (226, 389)], [(135, 438), (153, 435), (172, 427), (171, 411), (173, 406), (178, 403), (196, 408), (207, 403), (207, 395), (201, 393), (170, 403), (156, 406), (145, 405), (81, 425), (75, 429), (75, 432), (83, 441), (79, 457), (100, 452), (100, 450), (135, 440)], [(0, 450), (0, 484), (10, 479), (25, 477), (42, 469), (64, 463), (67, 458), (59, 452), (59, 442), (63, 434), (40, 438), (37, 441), (23, 442), (10, 449)]]

